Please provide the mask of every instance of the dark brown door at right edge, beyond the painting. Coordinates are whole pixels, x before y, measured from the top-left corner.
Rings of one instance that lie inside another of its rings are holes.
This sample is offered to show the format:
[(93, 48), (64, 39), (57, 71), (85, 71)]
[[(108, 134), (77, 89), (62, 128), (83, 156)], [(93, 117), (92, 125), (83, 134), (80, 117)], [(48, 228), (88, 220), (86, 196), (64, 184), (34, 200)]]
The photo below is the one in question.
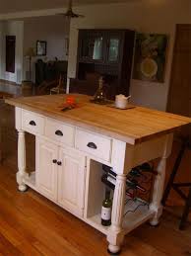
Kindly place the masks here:
[[(191, 117), (191, 24), (176, 26), (167, 111)], [(181, 134), (191, 138), (191, 126)]]

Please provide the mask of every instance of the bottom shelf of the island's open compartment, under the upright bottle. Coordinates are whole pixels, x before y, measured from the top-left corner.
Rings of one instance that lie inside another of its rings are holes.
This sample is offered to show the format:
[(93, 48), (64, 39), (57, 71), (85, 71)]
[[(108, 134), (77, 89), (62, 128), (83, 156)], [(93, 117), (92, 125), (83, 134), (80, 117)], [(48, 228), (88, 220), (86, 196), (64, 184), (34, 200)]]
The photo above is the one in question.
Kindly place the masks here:
[[(144, 203), (144, 202), (143, 202)], [(136, 209), (141, 203), (137, 202), (132, 206), (126, 206), (124, 213), (127, 211), (133, 211)], [(135, 211), (135, 213), (127, 213), (123, 219), (123, 228), (125, 234), (129, 233), (131, 230), (139, 226), (140, 224), (146, 222), (154, 215), (154, 211), (149, 210), (148, 206), (140, 206), (139, 209)], [(100, 222), (100, 213), (87, 218), (87, 222), (89, 222), (92, 226), (98, 229), (100, 232), (107, 234), (109, 230), (109, 226), (103, 226)]]

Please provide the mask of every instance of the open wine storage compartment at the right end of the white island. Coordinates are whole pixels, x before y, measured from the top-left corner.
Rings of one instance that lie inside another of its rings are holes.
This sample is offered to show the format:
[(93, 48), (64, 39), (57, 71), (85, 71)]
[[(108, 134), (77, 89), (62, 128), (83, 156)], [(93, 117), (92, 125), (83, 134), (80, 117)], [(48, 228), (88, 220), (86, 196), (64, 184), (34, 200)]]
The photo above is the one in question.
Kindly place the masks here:
[[(149, 167), (145, 165), (143, 167), (144, 170), (142, 171), (140, 167), (132, 169), (131, 175), (127, 177), (127, 190), (124, 202), (125, 208), (123, 218), (123, 227), (126, 233), (134, 229), (135, 226), (140, 225), (140, 223), (150, 219), (154, 214), (154, 212), (150, 210), (149, 206), (152, 194), (153, 176), (155, 175), (155, 171), (153, 170), (152, 166)], [(141, 175), (141, 172), (144, 173), (144, 176), (143, 174)], [(108, 176), (109, 179), (106, 179)], [(146, 178), (146, 176), (148, 178)], [(151, 177), (149, 178), (149, 176)], [(95, 160), (90, 161), (90, 182), (87, 192), (89, 197), (87, 199), (85, 217), (91, 225), (96, 227), (104, 234), (108, 233), (109, 226), (101, 225), (101, 204), (104, 199), (106, 186), (110, 188), (111, 198), (113, 197), (115, 188), (114, 177), (116, 177), (116, 173), (110, 166), (102, 165)], [(110, 178), (112, 178), (112, 182)], [(137, 180), (137, 183), (135, 180)], [(146, 188), (142, 185), (144, 182), (147, 185)], [(136, 194), (133, 193), (135, 190), (137, 190)]]

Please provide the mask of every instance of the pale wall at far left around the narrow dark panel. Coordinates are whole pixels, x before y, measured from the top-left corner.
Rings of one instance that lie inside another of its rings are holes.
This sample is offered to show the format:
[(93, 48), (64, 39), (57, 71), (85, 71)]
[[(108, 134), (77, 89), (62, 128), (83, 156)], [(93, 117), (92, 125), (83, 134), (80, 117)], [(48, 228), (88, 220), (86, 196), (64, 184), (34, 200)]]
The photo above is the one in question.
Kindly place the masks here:
[[(0, 30), (1, 30), (0, 31), (0, 36), (1, 36), (0, 78), (20, 84), (22, 81), (22, 70), (23, 70), (24, 23), (21, 21), (3, 22), (1, 24)], [(5, 69), (6, 36), (16, 36), (15, 73), (6, 72), (6, 69)]]

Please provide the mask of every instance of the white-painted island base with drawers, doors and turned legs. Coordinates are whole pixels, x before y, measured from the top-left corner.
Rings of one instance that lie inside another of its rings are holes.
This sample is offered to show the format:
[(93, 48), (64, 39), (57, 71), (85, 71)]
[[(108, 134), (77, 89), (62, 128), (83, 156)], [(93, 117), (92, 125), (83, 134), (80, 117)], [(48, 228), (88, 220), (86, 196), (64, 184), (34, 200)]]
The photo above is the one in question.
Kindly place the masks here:
[[(148, 220), (153, 225), (158, 224), (162, 213), (160, 200), (166, 158), (171, 152), (171, 133), (136, 145), (112, 137), (104, 138), (101, 143), (102, 136), (92, 134), (88, 130), (79, 133), (78, 128), (74, 127), (67, 127), (70, 135), (67, 137), (67, 132), (65, 133), (67, 124), (63, 123), (63, 127), (59, 127), (59, 133), (58, 130), (54, 132), (54, 126), (52, 126), (51, 133), (61, 135), (60, 139), (56, 137), (57, 139), (53, 140), (53, 135), (47, 137), (43, 126), (40, 127), (42, 121), (48, 118), (39, 115), (37, 118), (35, 113), (32, 113), (29, 121), (23, 126), (22, 109), (16, 108), (16, 128), (19, 131), (17, 182), (20, 191), (26, 191), (28, 185), (58, 206), (94, 226), (107, 236), (108, 249), (112, 253), (120, 250), (124, 235), (140, 224)], [(25, 131), (31, 129), (29, 125), (31, 119), (39, 128), (32, 128), (32, 133), (36, 136), (36, 171), (29, 175), (26, 172)], [(25, 127), (26, 130), (24, 130)], [(83, 141), (84, 144), (82, 144)], [(91, 147), (93, 144), (94, 147)], [(128, 211), (128, 207), (124, 207), (126, 175), (133, 167), (155, 158), (160, 160), (150, 206), (140, 207), (135, 213), (124, 215)], [(108, 227), (100, 223), (101, 204), (104, 197), (104, 185), (100, 181), (103, 163), (113, 167), (117, 174), (111, 225)]]

